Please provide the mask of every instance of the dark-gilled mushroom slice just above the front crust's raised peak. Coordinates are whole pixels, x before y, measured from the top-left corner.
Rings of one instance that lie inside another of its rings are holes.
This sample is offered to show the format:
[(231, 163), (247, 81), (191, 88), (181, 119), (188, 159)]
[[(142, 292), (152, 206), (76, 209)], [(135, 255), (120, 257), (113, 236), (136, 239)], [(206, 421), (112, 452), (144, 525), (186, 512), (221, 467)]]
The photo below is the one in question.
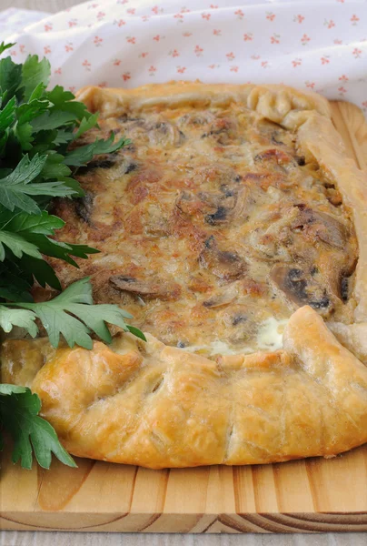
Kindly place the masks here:
[(270, 272), (273, 285), (283, 292), (283, 296), (297, 307), (309, 305), (328, 314), (332, 308), (332, 298), (327, 289), (315, 282), (311, 273), (303, 268), (276, 264)]

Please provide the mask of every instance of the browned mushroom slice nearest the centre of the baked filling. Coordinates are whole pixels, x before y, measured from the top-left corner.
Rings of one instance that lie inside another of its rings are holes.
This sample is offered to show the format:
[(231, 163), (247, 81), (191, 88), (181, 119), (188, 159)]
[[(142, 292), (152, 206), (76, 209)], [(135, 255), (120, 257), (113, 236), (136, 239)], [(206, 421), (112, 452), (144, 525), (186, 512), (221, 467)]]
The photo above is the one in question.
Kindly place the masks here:
[(242, 278), (247, 269), (246, 262), (237, 252), (220, 250), (213, 236), (206, 239), (199, 262), (202, 268), (224, 280)]

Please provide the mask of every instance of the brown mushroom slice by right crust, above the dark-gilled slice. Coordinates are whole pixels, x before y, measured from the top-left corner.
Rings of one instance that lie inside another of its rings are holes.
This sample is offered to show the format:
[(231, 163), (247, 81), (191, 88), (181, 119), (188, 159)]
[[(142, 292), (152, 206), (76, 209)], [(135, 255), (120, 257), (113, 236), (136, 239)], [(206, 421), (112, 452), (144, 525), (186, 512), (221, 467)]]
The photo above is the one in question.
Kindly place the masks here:
[(345, 248), (348, 239), (347, 228), (336, 218), (312, 210), (305, 205), (296, 205), (299, 210), (292, 228), (303, 232), (312, 241), (317, 238), (335, 248)]

